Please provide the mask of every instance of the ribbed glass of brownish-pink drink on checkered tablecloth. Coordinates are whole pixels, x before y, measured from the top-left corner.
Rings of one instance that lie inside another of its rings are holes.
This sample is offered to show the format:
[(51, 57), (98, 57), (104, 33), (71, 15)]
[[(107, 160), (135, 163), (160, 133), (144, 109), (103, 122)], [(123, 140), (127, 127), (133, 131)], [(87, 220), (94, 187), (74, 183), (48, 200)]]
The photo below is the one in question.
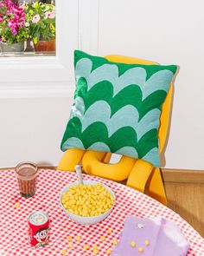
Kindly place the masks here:
[(20, 194), (29, 198), (35, 194), (37, 166), (32, 162), (21, 162), (16, 166), (16, 177)]

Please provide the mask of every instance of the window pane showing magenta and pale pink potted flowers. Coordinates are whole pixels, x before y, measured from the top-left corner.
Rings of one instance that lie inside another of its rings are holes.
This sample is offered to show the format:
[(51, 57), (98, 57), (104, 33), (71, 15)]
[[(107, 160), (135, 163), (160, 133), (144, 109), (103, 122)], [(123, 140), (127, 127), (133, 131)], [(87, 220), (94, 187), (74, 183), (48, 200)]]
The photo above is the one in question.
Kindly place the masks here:
[(0, 0), (0, 56), (55, 56), (55, 0)]

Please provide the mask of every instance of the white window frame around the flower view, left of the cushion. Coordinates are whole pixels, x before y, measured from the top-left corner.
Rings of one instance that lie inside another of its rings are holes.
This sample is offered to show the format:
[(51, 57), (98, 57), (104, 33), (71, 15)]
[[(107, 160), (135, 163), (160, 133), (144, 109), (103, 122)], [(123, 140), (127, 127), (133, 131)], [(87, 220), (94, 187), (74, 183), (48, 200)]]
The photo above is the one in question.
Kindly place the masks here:
[(56, 56), (0, 57), (0, 98), (73, 94), (73, 50), (97, 54), (99, 0), (55, 3)]

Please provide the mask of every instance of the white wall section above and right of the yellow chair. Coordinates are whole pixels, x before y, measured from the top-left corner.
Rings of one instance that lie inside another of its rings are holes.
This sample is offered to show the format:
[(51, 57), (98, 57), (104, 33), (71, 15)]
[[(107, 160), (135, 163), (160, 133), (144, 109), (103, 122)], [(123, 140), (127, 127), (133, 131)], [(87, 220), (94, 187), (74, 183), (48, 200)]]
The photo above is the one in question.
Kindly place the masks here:
[(204, 1), (102, 0), (99, 55), (177, 64), (166, 167), (204, 169)]

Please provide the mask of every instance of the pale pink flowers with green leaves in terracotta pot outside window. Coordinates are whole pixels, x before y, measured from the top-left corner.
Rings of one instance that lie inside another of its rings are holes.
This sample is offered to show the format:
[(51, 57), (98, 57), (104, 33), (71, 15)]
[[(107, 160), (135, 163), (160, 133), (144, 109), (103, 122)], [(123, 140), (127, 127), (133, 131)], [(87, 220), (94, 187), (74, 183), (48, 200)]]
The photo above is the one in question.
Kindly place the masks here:
[(26, 27), (36, 51), (55, 51), (55, 6), (49, 3), (24, 3)]

